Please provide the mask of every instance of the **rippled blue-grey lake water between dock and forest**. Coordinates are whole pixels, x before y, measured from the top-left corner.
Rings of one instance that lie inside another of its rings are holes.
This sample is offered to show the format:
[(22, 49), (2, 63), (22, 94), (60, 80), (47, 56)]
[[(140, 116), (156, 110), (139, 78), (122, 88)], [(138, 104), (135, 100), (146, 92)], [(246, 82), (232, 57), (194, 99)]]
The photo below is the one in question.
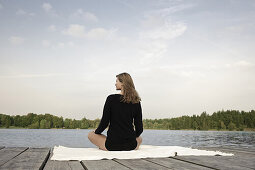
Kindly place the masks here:
[[(92, 147), (87, 138), (93, 129), (0, 129), (0, 146), (9, 147)], [(106, 135), (107, 129), (102, 133)], [(146, 145), (228, 146), (255, 149), (255, 132), (147, 130), (142, 133)]]

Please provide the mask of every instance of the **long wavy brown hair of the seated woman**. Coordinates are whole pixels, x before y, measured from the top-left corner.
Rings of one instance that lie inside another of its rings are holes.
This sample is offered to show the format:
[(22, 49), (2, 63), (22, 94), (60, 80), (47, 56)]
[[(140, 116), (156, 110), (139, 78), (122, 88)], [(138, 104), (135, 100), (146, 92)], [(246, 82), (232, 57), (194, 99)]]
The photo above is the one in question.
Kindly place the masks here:
[(116, 75), (118, 80), (123, 84), (123, 96), (122, 100), (124, 103), (139, 103), (141, 98), (138, 92), (135, 90), (135, 85), (132, 77), (124, 72)]

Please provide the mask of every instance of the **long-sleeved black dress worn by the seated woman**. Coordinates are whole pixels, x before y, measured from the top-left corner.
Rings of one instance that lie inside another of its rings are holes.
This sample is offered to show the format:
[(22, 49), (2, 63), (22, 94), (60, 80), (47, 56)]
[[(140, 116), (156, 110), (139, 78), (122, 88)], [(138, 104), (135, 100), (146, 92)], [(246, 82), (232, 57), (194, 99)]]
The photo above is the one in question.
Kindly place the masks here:
[(107, 97), (102, 119), (95, 130), (96, 134), (101, 134), (110, 123), (105, 142), (109, 151), (134, 150), (137, 146), (136, 137), (143, 132), (141, 103), (124, 103), (120, 101), (122, 97), (121, 94)]

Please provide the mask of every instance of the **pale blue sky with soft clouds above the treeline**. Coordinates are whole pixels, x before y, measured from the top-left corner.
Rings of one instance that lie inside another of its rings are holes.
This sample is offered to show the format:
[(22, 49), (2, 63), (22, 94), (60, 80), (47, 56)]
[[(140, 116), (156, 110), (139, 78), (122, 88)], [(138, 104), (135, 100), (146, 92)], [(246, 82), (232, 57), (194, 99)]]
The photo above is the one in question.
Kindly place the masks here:
[(255, 1), (0, 0), (0, 113), (101, 118), (127, 72), (143, 119), (255, 108)]

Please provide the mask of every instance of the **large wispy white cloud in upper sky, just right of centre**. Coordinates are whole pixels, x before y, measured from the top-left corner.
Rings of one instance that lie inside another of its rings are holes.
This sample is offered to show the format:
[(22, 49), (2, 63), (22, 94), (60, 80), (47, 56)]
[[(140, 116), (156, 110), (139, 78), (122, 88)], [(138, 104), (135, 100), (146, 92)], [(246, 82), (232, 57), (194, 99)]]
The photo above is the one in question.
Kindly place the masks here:
[(159, 62), (168, 49), (168, 42), (185, 33), (187, 26), (183, 22), (174, 22), (159, 15), (146, 16), (141, 21), (139, 35), (140, 64)]

